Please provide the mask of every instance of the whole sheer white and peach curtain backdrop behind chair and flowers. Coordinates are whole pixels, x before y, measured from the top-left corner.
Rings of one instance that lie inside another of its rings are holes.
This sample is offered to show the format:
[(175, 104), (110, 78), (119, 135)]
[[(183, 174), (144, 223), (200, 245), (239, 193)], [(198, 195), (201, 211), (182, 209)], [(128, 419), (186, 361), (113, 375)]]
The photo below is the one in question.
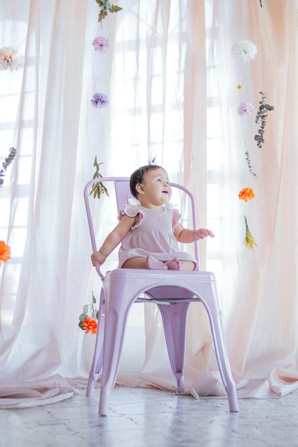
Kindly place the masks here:
[[(201, 269), (217, 274), (239, 397), (298, 388), (294, 0), (263, 1), (260, 35), (258, 0), (119, 0), (123, 10), (102, 29), (95, 0), (16, 4), (0, 0), (0, 46), (25, 55), (24, 69), (0, 72), (0, 159), (17, 148), (0, 190), (0, 240), (12, 252), (0, 267), (0, 397), (13, 399), (6, 406), (40, 394), (41, 403), (59, 400), (86, 384), (95, 336), (78, 317), (92, 291), (99, 298), (101, 281), (82, 194), (95, 156), (102, 175), (127, 177), (156, 156), (171, 181), (193, 192), (199, 228), (215, 234), (200, 242)], [(97, 36), (109, 39), (106, 53), (94, 51)], [(231, 57), (240, 39), (258, 47), (251, 63)], [(261, 88), (274, 111), (259, 149)], [(92, 108), (96, 92), (108, 95), (106, 108)], [(239, 116), (241, 102), (254, 112)], [(238, 198), (244, 187), (256, 194), (249, 203)], [(98, 246), (117, 224), (109, 189), (110, 198), (90, 198)], [(171, 201), (191, 228), (185, 197)], [(242, 244), (244, 215), (256, 253)], [(117, 251), (104, 272), (117, 267)], [(206, 311), (190, 309), (187, 392), (225, 395)], [(12, 391), (16, 382), (23, 392)], [(176, 389), (154, 304), (132, 307), (118, 383)]]

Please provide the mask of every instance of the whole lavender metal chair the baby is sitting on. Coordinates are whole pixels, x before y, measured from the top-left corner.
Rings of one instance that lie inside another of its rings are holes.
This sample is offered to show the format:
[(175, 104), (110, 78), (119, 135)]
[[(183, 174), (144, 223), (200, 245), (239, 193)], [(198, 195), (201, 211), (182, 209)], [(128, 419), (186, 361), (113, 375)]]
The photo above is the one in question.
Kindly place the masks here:
[[(103, 177), (101, 181), (113, 181), (116, 190), (117, 207), (123, 209), (132, 197), (129, 178)], [(84, 201), (88, 217), (92, 251), (97, 251), (90, 206), (88, 188), (84, 188)], [(197, 228), (196, 204), (193, 195), (183, 186), (170, 183), (188, 194), (193, 211), (193, 228)], [(227, 391), (230, 411), (239, 411), (235, 382), (227, 352), (227, 343), (222, 323), (222, 312), (218, 301), (215, 274), (199, 271), (198, 241), (195, 243), (195, 257), (198, 271), (116, 269), (103, 276), (99, 266), (97, 273), (103, 284), (101, 289), (98, 330), (92, 366), (89, 374), (87, 396), (92, 396), (95, 382), (101, 370), (101, 395), (99, 411), (101, 415), (108, 412), (109, 395), (114, 388), (120, 362), (126, 320), (133, 303), (155, 303), (161, 313), (164, 334), (172, 371), (177, 380), (177, 392), (184, 392), (184, 365), (186, 347), (186, 319), (190, 302), (204, 304), (211, 325), (214, 349), (223, 385)], [(144, 293), (148, 298), (139, 298)]]

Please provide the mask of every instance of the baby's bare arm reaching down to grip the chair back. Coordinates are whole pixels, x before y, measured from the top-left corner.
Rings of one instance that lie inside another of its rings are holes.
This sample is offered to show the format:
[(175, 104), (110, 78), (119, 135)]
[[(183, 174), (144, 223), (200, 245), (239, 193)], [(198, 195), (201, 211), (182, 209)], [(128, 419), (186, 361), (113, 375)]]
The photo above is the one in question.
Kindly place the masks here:
[(117, 227), (113, 229), (109, 236), (107, 236), (98, 252), (92, 253), (91, 261), (93, 267), (97, 264), (101, 266), (105, 262), (106, 258), (110, 253), (112, 253), (113, 249), (115, 249), (128, 234), (137, 218), (139, 218), (139, 215), (134, 217), (129, 217), (126, 214), (123, 215), (121, 222), (118, 223)]

